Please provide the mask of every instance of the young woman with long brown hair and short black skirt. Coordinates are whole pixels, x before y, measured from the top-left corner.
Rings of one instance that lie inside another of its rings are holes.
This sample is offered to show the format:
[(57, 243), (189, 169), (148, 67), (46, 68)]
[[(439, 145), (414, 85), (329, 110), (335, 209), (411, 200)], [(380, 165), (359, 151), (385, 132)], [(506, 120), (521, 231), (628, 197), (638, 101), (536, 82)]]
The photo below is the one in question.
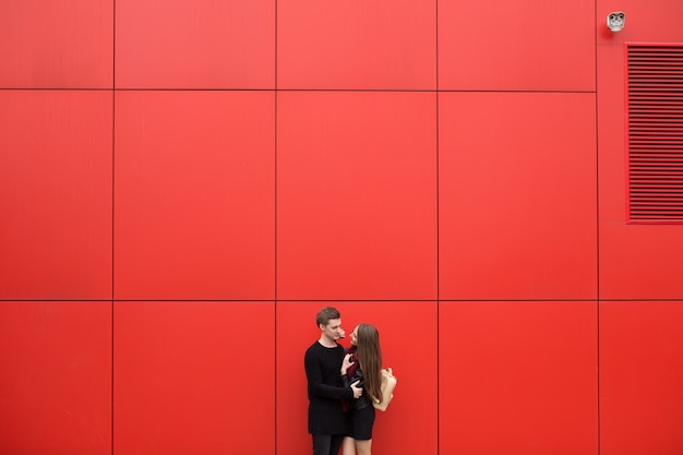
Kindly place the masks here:
[(350, 335), (351, 348), (342, 363), (342, 380), (345, 386), (361, 381), (359, 398), (348, 403), (350, 434), (344, 439), (343, 454), (371, 455), (374, 406), (382, 400), (382, 349), (380, 334), (374, 325), (359, 324)]

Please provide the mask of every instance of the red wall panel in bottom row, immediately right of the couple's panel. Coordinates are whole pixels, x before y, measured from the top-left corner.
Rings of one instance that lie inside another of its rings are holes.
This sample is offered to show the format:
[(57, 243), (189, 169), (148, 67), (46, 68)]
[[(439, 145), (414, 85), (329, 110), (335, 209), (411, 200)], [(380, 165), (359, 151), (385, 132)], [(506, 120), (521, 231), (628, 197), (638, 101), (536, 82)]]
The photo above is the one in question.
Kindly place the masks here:
[(598, 453), (596, 302), (441, 302), (442, 454)]

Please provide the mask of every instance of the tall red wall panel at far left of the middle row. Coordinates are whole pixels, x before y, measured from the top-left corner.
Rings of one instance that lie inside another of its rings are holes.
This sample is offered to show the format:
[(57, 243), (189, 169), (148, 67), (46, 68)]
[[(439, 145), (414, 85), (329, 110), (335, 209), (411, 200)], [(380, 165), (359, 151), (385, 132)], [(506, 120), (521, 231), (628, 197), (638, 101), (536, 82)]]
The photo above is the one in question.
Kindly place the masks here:
[(111, 103), (0, 91), (0, 298), (111, 298)]

